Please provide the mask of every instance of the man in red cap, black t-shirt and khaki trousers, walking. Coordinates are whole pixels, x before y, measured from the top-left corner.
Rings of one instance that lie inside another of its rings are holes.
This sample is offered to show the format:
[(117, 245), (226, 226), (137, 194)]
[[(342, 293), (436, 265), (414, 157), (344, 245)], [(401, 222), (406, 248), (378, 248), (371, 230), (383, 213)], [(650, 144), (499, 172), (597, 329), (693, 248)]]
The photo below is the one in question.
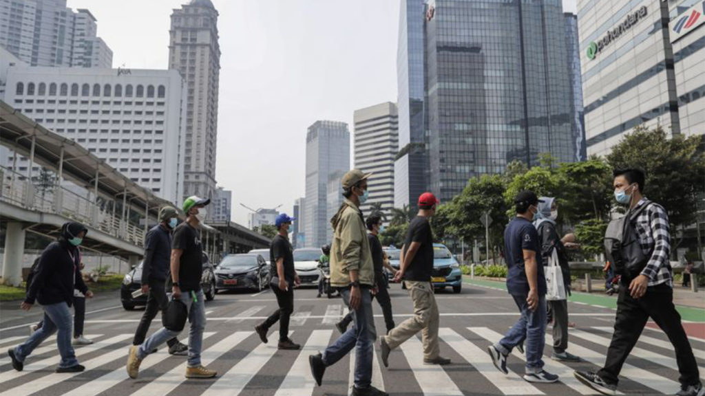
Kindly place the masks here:
[(409, 223), (403, 249), (403, 261), (394, 276), (395, 281), (404, 278), (414, 302), (414, 316), (393, 328), (380, 338), (382, 363), (388, 366), (391, 349), (401, 345), (421, 330), (424, 342), (424, 364), (449, 364), (450, 359), (441, 357), (439, 349), (439, 308), (431, 285), (434, 268), (434, 241), (429, 219), (436, 212), (439, 200), (434, 194), (424, 192), (419, 197), (419, 214)]

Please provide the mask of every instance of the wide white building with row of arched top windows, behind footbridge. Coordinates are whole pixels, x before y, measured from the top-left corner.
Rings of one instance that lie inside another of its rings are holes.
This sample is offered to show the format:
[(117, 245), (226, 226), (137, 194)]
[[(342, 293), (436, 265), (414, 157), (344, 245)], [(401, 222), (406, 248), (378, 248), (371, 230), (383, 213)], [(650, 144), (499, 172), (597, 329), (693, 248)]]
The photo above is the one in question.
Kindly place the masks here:
[[(182, 202), (186, 102), (176, 70), (10, 66), (0, 99), (159, 197)], [(0, 161), (20, 172), (29, 163)]]

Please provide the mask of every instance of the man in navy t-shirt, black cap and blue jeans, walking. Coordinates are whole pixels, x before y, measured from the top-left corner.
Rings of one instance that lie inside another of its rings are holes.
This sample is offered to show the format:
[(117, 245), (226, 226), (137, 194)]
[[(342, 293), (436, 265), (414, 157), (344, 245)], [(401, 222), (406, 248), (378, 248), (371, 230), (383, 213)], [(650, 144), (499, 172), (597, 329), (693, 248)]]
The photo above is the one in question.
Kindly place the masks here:
[(488, 349), (496, 368), (508, 374), (508, 354), (526, 339), (524, 379), (534, 383), (554, 383), (558, 376), (545, 371), (541, 359), (546, 344), (546, 277), (539, 233), (532, 224), (539, 211), (539, 202), (532, 191), (522, 191), (514, 200), (517, 216), (504, 230), (504, 252), (509, 268), (507, 290), (521, 316), (504, 338)]

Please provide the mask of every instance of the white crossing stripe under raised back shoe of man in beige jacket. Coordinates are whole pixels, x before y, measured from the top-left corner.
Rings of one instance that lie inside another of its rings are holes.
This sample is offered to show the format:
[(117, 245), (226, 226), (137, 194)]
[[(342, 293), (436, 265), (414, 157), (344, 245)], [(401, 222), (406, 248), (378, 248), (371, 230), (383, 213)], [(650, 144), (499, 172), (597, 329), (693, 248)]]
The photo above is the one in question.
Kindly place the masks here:
[(313, 330), (275, 396), (306, 396), (313, 393), (316, 381), (311, 376), (308, 357), (309, 354), (322, 352), (328, 346), (332, 334), (333, 330)]

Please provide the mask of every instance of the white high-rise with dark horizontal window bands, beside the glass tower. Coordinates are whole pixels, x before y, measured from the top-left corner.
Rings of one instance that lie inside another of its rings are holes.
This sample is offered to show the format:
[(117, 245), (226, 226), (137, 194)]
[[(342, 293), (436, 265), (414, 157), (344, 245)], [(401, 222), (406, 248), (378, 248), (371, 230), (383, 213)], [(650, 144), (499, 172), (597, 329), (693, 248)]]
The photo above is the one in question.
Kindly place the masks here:
[(381, 206), (386, 220), (394, 207), (394, 158), (399, 150), (397, 106), (387, 101), (353, 113), (355, 168), (372, 172), (367, 180), (369, 199), (360, 206), (365, 216)]

